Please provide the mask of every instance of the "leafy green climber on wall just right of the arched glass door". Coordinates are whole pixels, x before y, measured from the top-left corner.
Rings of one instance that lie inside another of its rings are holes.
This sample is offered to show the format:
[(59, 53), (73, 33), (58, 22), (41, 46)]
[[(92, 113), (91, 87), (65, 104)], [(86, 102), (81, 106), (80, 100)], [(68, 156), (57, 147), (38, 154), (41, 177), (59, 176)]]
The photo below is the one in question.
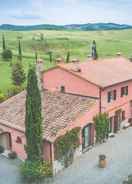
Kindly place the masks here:
[(100, 113), (94, 117), (96, 129), (96, 142), (102, 143), (108, 138), (109, 133), (109, 118), (108, 114)]

